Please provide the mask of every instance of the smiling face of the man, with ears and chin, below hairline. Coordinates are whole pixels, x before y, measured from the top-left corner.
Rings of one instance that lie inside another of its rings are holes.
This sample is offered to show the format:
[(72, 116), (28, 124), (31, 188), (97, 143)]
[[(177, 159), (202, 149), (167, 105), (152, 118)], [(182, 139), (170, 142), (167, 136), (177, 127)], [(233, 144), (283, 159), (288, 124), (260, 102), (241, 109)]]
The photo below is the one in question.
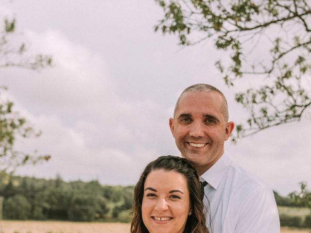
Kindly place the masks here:
[(219, 93), (187, 92), (180, 99), (170, 128), (181, 155), (203, 174), (223, 154), (234, 123), (225, 122)]

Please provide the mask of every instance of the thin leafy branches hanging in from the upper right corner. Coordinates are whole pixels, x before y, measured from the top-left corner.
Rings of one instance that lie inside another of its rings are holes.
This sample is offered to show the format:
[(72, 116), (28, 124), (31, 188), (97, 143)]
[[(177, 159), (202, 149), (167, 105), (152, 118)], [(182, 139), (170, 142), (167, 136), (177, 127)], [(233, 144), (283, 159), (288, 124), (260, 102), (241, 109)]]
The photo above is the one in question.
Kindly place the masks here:
[(225, 83), (234, 86), (244, 77), (255, 83), (236, 93), (250, 114), (237, 125), (237, 138), (306, 115), (311, 106), (310, 1), (155, 1), (164, 11), (155, 31), (177, 34), (183, 46), (212, 39), (228, 54), (215, 64)]

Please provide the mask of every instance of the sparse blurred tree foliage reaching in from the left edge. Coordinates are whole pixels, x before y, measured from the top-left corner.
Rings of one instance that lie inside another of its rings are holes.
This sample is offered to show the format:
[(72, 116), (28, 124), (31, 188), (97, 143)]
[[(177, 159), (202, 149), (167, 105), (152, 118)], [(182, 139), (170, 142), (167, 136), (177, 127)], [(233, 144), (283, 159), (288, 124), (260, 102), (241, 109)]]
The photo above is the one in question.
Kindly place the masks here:
[[(32, 54), (28, 51), (28, 44), (17, 38), (16, 20), (4, 19), (3, 31), (0, 32), (0, 68), (21, 67), (33, 70), (52, 66), (52, 57), (43, 54)], [(13, 110), (14, 103), (3, 98), (6, 87), (0, 87), (0, 172), (3, 178), (8, 169), (26, 163), (36, 163), (42, 159), (49, 160), (49, 155), (37, 155), (15, 150), (18, 137), (28, 138), (39, 136), (29, 121), (20, 113)], [(1, 178), (0, 178), (1, 179)], [(0, 180), (1, 182), (1, 180)]]

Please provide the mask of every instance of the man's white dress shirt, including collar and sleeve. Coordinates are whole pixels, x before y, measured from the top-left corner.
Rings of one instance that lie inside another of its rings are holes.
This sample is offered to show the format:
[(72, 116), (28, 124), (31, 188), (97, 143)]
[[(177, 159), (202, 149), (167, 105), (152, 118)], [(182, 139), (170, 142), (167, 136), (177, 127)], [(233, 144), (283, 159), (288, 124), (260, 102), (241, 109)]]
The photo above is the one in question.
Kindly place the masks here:
[(272, 189), (225, 153), (202, 178), (210, 233), (280, 233)]

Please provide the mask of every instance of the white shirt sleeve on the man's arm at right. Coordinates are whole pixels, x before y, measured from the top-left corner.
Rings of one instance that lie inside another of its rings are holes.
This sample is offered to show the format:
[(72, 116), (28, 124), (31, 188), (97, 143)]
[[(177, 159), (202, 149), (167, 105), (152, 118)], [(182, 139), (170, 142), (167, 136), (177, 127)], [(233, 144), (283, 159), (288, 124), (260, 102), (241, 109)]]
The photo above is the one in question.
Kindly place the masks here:
[(258, 188), (243, 201), (234, 233), (280, 233), (276, 200), (270, 188)]

